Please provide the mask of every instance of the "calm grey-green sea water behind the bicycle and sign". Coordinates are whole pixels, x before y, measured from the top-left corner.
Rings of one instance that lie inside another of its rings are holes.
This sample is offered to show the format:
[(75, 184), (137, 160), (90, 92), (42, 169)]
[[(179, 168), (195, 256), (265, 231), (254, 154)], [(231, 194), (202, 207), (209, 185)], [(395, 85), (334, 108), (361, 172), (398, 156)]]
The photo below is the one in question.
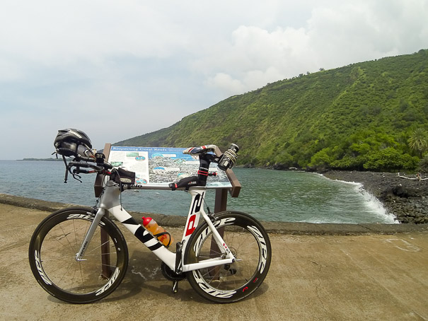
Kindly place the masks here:
[[(245, 211), (262, 221), (310, 223), (395, 223), (383, 206), (361, 185), (328, 180), (322, 175), (253, 168), (234, 168), (241, 194), (228, 198), (228, 209)], [(0, 161), (0, 193), (54, 202), (92, 206), (95, 175), (83, 182), (69, 177), (64, 163)], [(122, 204), (129, 211), (187, 216), (190, 196), (185, 192), (127, 191)], [(214, 210), (214, 191), (207, 204)]]

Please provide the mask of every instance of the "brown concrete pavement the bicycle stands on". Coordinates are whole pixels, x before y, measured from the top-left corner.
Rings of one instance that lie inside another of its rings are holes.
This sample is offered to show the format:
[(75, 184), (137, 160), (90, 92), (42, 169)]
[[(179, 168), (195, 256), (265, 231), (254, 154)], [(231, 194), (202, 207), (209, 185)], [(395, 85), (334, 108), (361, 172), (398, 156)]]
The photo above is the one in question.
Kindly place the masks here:
[[(71, 305), (43, 291), (28, 265), (30, 236), (48, 214), (0, 204), (1, 320), (428, 320), (426, 227), (392, 234), (270, 233), (267, 279), (253, 296), (229, 305), (199, 298), (187, 281), (171, 293), (161, 262), (122, 229), (129, 268), (120, 287), (98, 303)], [(168, 231), (180, 239), (182, 229)]]

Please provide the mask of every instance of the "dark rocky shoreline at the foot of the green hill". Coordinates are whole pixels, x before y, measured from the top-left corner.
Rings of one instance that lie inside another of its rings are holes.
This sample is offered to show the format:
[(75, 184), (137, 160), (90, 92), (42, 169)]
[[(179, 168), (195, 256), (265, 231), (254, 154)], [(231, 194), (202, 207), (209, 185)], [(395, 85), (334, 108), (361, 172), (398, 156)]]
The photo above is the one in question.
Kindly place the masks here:
[(362, 183), (400, 223), (428, 223), (428, 180), (400, 174), (412, 178), (407, 179), (398, 173), (328, 170), (321, 174), (331, 180)]

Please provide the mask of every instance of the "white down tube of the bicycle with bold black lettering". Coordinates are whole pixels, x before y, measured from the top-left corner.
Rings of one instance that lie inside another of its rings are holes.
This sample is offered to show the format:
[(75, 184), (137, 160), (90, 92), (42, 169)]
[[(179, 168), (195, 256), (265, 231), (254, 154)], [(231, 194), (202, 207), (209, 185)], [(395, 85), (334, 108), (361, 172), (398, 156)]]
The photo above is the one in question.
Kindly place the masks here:
[(120, 205), (113, 206), (108, 209), (112, 216), (115, 216), (117, 221), (120, 221), (125, 228), (127, 228), (132, 234), (138, 238), (141, 243), (151, 250), (159, 259), (165, 262), (168, 267), (174, 271), (175, 269), (175, 253), (170, 252), (164, 247), (153, 235), (151, 235), (145, 228), (143, 228), (135, 219), (129, 215), (125, 209), (121, 208)]

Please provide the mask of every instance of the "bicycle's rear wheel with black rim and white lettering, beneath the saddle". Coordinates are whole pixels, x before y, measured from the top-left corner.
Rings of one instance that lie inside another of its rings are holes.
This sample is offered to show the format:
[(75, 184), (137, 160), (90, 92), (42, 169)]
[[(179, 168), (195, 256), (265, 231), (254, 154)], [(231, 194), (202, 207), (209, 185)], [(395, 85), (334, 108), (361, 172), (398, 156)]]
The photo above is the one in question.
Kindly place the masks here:
[[(238, 211), (215, 215), (214, 226), (236, 257), (231, 264), (187, 272), (187, 280), (202, 297), (216, 303), (233, 303), (253, 293), (265, 279), (272, 256), (265, 228), (252, 216)], [(185, 264), (221, 257), (212, 249), (212, 232), (206, 222), (198, 226), (185, 250)], [(213, 238), (214, 242), (214, 238)]]

